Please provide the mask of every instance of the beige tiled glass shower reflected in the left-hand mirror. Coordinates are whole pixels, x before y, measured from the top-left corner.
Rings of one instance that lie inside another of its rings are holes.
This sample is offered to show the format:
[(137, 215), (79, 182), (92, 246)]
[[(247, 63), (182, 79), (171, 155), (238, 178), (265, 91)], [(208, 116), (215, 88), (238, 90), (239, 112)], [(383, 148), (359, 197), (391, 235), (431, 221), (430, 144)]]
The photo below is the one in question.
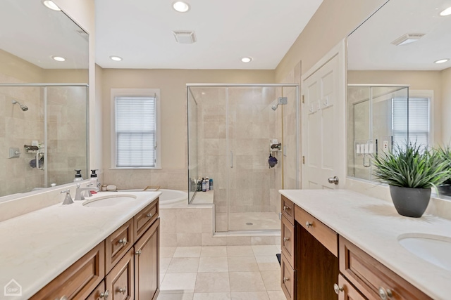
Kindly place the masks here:
[(87, 84), (0, 84), (0, 197), (86, 178), (87, 99)]

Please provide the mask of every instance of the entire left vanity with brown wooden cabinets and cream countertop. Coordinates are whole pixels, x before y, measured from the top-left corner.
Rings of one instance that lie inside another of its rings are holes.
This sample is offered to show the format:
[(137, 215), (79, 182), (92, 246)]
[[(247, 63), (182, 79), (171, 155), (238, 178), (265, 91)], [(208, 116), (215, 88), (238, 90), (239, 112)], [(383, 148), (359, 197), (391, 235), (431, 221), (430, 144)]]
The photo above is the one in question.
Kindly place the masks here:
[(156, 299), (160, 194), (98, 193), (1, 222), (0, 281), (18, 299)]

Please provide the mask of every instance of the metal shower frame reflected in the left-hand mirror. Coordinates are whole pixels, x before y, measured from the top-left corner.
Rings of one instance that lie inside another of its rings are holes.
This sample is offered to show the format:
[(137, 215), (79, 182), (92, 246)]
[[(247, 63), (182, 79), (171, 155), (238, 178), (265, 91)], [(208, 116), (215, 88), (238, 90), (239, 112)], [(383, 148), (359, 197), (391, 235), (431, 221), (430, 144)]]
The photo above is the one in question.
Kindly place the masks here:
[[(87, 103), (86, 103), (86, 105), (87, 105), (87, 110), (86, 110), (86, 118), (87, 118), (87, 124), (86, 124), (86, 137), (87, 137), (87, 139), (86, 139), (86, 157), (87, 157), (87, 159), (86, 159), (86, 162), (87, 162), (87, 169), (89, 170), (89, 84), (63, 84), (63, 83), (30, 83), (30, 84), (27, 84), (27, 83), (23, 83), (23, 84), (20, 84), (20, 83), (0, 83), (0, 87), (3, 87), (3, 86), (16, 86), (16, 87), (42, 87), (42, 88), (44, 88), (44, 91), (43, 91), (43, 98), (44, 98), (44, 107), (47, 107), (47, 87), (52, 87), (52, 86), (61, 86), (61, 87), (64, 87), (64, 86), (70, 86), (70, 87), (72, 87), (72, 86), (84, 86), (84, 87), (86, 87), (87, 88), (87, 93), (86, 93), (86, 95), (87, 95)], [(49, 178), (48, 178), (48, 169), (47, 169), (47, 138), (48, 138), (48, 136), (47, 136), (47, 109), (46, 110), (44, 110), (44, 124), (46, 124), (46, 126), (44, 126), (44, 141), (45, 141), (45, 143), (44, 143), (44, 185), (46, 186), (46, 188), (47, 188), (47, 185), (48, 185), (48, 181), (49, 181)], [(39, 162), (38, 161), (36, 161), (36, 165), (38, 166), (39, 165)]]

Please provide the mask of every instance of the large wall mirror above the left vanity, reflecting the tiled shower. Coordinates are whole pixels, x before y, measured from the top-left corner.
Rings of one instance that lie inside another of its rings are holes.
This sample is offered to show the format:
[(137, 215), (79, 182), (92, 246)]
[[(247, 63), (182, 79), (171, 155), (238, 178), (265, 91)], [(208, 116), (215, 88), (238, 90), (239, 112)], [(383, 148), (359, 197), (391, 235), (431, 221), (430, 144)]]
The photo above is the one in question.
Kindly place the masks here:
[(88, 34), (40, 0), (1, 0), (0, 28), (0, 197), (86, 178)]

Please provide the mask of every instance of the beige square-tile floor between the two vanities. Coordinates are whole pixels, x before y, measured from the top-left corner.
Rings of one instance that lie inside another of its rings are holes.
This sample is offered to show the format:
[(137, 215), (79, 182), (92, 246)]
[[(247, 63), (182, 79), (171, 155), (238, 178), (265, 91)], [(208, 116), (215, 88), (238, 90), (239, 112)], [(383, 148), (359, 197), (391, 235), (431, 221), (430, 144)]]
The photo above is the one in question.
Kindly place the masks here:
[(286, 300), (280, 246), (161, 247), (157, 300)]

